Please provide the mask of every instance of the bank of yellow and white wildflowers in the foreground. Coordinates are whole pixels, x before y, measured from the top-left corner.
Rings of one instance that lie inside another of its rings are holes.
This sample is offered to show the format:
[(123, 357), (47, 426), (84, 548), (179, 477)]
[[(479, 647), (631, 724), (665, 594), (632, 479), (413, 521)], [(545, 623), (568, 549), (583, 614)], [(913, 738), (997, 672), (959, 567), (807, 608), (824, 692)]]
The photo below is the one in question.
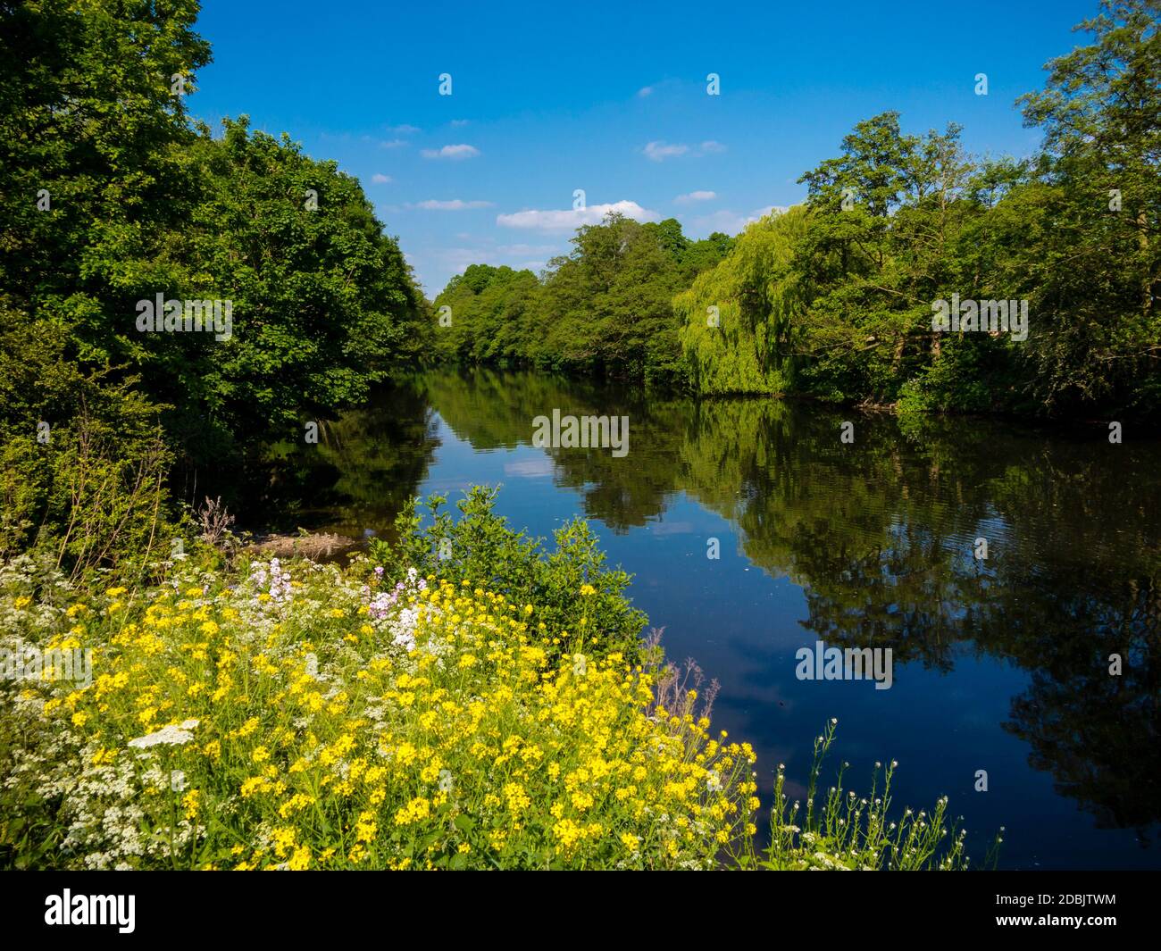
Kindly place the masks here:
[(93, 656), (87, 686), (0, 686), (5, 864), (712, 867), (755, 834), (749, 744), (591, 629), (414, 570), (173, 570), (0, 572), (5, 637)]

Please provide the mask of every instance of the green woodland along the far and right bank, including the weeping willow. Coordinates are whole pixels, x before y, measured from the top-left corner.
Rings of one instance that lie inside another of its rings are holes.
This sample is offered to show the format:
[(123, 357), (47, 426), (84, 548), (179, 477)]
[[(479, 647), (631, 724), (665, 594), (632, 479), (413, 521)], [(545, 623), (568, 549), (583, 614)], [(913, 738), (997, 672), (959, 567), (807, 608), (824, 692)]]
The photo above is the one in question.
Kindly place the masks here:
[[(1032, 158), (975, 158), (954, 123), (884, 113), (803, 173), (805, 204), (736, 238), (611, 217), (539, 276), (469, 267), (435, 298), (439, 352), (706, 395), (1156, 418), (1159, 13), (1115, 2), (1082, 24), (1088, 45), (1018, 102), (1044, 132)], [(932, 333), (952, 294), (1026, 300), (1027, 339)]]

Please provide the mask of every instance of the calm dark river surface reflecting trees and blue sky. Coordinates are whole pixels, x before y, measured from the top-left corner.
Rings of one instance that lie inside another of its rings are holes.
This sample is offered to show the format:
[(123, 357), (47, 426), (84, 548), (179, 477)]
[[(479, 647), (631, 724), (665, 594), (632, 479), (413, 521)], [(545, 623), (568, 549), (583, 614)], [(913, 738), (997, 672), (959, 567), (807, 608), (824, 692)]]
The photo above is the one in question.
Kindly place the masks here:
[[(534, 448), (554, 408), (629, 416), (628, 455)], [(1161, 867), (1156, 441), (441, 372), (323, 442), (272, 462), (261, 527), (387, 534), (409, 496), (473, 483), (533, 534), (590, 519), (670, 657), (721, 682), (715, 727), (753, 742), (764, 801), (836, 716), (849, 785), (897, 759), (896, 805), (947, 794), (976, 857), (1003, 826), (1003, 867)], [(796, 679), (819, 640), (892, 648), (892, 687)]]

